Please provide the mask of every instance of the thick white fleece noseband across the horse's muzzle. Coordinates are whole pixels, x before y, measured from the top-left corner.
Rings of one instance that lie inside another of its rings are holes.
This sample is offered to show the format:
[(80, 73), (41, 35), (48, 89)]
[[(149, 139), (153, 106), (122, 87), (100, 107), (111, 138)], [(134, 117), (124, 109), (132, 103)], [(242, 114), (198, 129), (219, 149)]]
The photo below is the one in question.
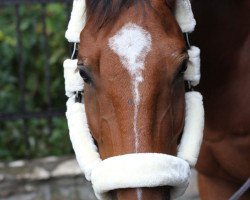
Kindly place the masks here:
[(189, 164), (158, 153), (135, 153), (103, 160), (92, 172), (98, 199), (110, 200), (107, 192), (123, 188), (173, 186), (171, 197), (184, 194), (190, 177)]

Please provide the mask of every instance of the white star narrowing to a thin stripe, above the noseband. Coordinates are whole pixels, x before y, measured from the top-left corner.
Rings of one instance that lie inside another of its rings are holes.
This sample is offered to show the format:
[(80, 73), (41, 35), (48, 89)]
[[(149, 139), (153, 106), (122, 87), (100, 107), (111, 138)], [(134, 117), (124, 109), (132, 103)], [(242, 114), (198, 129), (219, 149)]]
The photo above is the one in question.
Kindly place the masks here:
[(151, 50), (151, 35), (142, 27), (128, 23), (119, 30), (115, 36), (109, 39), (110, 48), (119, 56), (123, 67), (126, 68), (133, 82), (134, 98), (134, 133), (135, 150), (138, 151), (139, 132), (137, 117), (140, 104), (140, 83), (143, 82), (142, 72), (147, 54)]

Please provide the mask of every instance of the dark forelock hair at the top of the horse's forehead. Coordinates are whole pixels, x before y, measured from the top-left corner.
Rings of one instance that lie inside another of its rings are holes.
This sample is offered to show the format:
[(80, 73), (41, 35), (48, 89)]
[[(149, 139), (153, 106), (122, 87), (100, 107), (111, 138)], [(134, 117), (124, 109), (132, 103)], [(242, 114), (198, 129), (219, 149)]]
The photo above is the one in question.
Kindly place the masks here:
[[(174, 0), (166, 0), (167, 6), (171, 9)], [(86, 0), (87, 18), (94, 17), (94, 27), (98, 30), (104, 25), (114, 21), (124, 8), (141, 4), (151, 6), (150, 0)]]

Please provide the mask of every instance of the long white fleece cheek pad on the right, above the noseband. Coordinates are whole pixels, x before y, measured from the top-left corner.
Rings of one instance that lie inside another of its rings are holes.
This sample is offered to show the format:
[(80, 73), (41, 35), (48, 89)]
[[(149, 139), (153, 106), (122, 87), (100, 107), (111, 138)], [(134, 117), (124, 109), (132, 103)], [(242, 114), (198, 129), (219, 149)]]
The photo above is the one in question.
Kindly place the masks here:
[(190, 166), (195, 166), (203, 139), (204, 107), (199, 92), (187, 92), (185, 99), (185, 125), (177, 156), (186, 160)]

